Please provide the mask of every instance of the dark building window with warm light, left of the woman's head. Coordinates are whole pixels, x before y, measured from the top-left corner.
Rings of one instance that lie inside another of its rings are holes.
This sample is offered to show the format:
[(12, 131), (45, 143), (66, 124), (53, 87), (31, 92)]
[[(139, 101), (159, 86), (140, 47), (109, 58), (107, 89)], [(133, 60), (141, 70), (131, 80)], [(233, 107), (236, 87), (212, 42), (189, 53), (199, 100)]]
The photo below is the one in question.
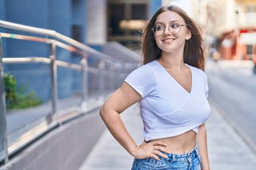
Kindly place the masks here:
[[(110, 1), (108, 3), (108, 40), (137, 42), (148, 19), (148, 1)], [(123, 43), (124, 42), (124, 43)]]

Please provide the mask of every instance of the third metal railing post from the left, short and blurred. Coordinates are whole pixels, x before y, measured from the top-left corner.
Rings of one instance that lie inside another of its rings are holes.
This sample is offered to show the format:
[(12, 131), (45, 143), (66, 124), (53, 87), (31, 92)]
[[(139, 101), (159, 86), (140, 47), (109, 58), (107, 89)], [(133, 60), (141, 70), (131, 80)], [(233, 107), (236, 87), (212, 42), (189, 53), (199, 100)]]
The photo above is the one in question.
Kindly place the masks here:
[(88, 99), (88, 63), (87, 59), (83, 58), (81, 61), (82, 64), (82, 90), (83, 90), (83, 97), (82, 103)]

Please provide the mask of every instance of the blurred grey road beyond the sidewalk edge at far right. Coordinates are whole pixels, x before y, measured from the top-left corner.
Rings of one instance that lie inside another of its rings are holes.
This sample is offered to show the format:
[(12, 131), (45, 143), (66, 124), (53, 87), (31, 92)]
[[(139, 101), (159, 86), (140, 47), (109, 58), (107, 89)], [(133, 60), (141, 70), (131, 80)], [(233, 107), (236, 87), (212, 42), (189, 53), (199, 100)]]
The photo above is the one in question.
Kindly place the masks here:
[(210, 96), (256, 152), (256, 74), (251, 60), (208, 62)]

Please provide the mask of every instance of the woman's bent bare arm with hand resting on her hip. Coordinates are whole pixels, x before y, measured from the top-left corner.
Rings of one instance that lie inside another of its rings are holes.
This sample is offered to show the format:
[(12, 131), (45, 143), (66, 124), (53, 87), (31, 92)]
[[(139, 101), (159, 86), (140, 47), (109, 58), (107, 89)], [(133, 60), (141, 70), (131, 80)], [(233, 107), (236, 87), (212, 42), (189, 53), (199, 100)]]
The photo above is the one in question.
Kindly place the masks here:
[(106, 100), (100, 109), (100, 116), (110, 133), (131, 155), (133, 155), (133, 157), (137, 159), (146, 157), (158, 159), (156, 155), (166, 157), (166, 155), (160, 153), (160, 151), (168, 152), (162, 148), (162, 146), (166, 146), (163, 142), (143, 142), (143, 144), (137, 146), (119, 116), (125, 109), (137, 103), (139, 100), (141, 100), (141, 95), (128, 85), (128, 83), (124, 82), (121, 87)]

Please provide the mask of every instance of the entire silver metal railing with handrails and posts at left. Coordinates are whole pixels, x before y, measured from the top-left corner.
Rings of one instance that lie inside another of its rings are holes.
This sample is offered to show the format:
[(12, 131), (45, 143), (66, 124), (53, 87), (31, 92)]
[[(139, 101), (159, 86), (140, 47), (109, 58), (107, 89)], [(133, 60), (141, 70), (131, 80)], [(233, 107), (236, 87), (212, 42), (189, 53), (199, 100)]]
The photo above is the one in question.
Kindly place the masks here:
[[(138, 67), (137, 64), (134, 63), (127, 63), (122, 62), (121, 60), (117, 60), (115, 58), (112, 58), (111, 56), (108, 56), (106, 54), (103, 54), (101, 52), (98, 52), (97, 50), (94, 50), (93, 48), (90, 48), (89, 46), (86, 46), (85, 44), (82, 44), (80, 42), (77, 42), (76, 40), (73, 40), (72, 38), (69, 38), (67, 36), (63, 36), (62, 34), (59, 34), (58, 32), (55, 32), (54, 30), (46, 30), (42, 28), (35, 28), (31, 26), (24, 26), (21, 24), (14, 24), (11, 22), (5, 22), (0, 20), (0, 28), (8, 28), (12, 30), (19, 30), (23, 32), (29, 32), (34, 34), (40, 34), (46, 36), (46, 38), (40, 38), (36, 36), (24, 36), (24, 35), (18, 35), (18, 34), (8, 34), (8, 33), (0, 33), (0, 94), (1, 94), (1, 100), (0, 100), (0, 112), (3, 111), (3, 136), (4, 136), (4, 149), (5, 149), (5, 163), (8, 161), (9, 157), (9, 148), (7, 146), (7, 125), (6, 125), (6, 109), (5, 109), (5, 97), (3, 95), (4, 93), (4, 85), (3, 85), (3, 63), (13, 64), (13, 63), (24, 63), (24, 62), (42, 62), (47, 63), (50, 65), (51, 68), (51, 103), (52, 103), (52, 112), (47, 117), (47, 122), (51, 123), (50, 126), (53, 126), (53, 124), (57, 123), (56, 113), (57, 113), (57, 66), (60, 67), (68, 67), (69, 69), (75, 69), (82, 71), (82, 99), (85, 101), (85, 99), (88, 97), (88, 73), (98, 73), (99, 71), (99, 87), (98, 91), (99, 93), (102, 93), (104, 90), (104, 71), (106, 71), (106, 64), (110, 64), (110, 70), (116, 73), (120, 72), (127, 72), (131, 71), (132, 69), (135, 69), (135, 67)], [(49, 38), (52, 37), (52, 38)], [(2, 45), (1, 45), (1, 38), (14, 38), (19, 40), (27, 40), (27, 41), (33, 41), (33, 42), (42, 42), (45, 44), (50, 44), (51, 48), (51, 56), (49, 58), (46, 57), (40, 57), (40, 56), (30, 56), (30, 57), (19, 57), (19, 58), (3, 58), (2, 53)], [(61, 42), (59, 41), (61, 40)], [(77, 52), (78, 54), (81, 54), (82, 60), (80, 64), (74, 64), (71, 62), (64, 62), (61, 60), (57, 60), (56, 58), (56, 47), (63, 48), (65, 50), (71, 51), (71, 52)], [(100, 59), (100, 62), (98, 64), (98, 68), (89, 67), (88, 66), (88, 53), (92, 54), (95, 58)], [(81, 105), (83, 104), (83, 101)], [(1, 116), (1, 115), (0, 115)], [(0, 120), (1, 121), (1, 120)], [(2, 123), (2, 122), (0, 122)], [(61, 123), (61, 122), (60, 122)], [(13, 148), (11, 148), (13, 151)], [(0, 155), (1, 156), (1, 155)], [(0, 160), (1, 161), (1, 160)]]

